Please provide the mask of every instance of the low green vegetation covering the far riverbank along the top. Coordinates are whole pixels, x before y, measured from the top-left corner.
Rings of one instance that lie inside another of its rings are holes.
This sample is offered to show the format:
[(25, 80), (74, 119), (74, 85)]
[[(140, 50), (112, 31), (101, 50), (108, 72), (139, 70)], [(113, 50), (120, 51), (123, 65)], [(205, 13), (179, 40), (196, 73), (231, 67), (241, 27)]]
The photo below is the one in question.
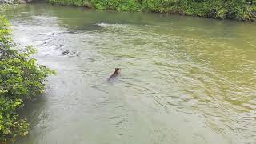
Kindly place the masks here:
[(256, 20), (256, 0), (50, 0), (50, 3), (106, 10), (150, 11), (208, 18)]

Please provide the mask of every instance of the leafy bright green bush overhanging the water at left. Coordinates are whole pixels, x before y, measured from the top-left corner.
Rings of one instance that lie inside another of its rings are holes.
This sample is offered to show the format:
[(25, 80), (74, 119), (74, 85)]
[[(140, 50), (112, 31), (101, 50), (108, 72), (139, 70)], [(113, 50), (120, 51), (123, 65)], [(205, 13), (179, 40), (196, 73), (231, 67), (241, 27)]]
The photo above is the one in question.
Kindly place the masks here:
[(9, 26), (8, 20), (0, 16), (0, 142), (28, 134), (29, 124), (17, 111), (24, 101), (42, 94), (45, 78), (54, 74), (30, 58), (35, 52), (32, 46), (26, 46), (24, 52), (12, 49)]

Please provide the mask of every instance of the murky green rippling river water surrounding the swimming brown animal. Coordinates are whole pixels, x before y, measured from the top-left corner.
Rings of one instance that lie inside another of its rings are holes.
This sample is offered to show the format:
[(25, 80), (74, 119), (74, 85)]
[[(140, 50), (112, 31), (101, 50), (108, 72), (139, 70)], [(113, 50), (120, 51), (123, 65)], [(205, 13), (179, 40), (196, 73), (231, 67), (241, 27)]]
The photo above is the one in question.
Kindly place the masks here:
[(17, 143), (256, 143), (254, 23), (44, 4), (10, 18), (58, 71)]

